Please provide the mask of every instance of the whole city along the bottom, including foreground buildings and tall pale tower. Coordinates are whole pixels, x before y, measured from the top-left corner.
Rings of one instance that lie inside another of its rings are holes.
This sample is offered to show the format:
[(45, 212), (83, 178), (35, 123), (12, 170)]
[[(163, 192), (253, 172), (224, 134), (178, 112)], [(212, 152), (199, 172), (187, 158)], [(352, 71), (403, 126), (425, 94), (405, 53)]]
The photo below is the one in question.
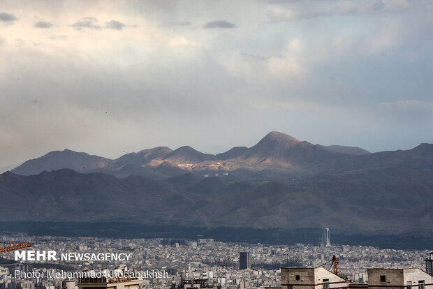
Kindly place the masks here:
[[(11, 238), (0, 236), (0, 241), (12, 241)], [(17, 239), (23, 239), (23, 236)], [(78, 260), (67, 264), (0, 264), (0, 289), (433, 289), (433, 252), (335, 246), (330, 243), (329, 229), (323, 230), (321, 243), (325, 246), (224, 243), (210, 238), (27, 236), (24, 239), (32, 239), (36, 250), (78, 250), (84, 253), (121, 251), (131, 253), (132, 258), (124, 264)], [(331, 272), (332, 255), (337, 255), (339, 259), (338, 275)], [(1, 257), (10, 260), (13, 254), (2, 253)], [(108, 279), (105, 275), (101, 279), (47, 278), (48, 270), (52, 269), (105, 272), (110, 268), (159, 270), (167, 274), (156, 279)], [(41, 278), (15, 278), (15, 270), (38, 272)]]

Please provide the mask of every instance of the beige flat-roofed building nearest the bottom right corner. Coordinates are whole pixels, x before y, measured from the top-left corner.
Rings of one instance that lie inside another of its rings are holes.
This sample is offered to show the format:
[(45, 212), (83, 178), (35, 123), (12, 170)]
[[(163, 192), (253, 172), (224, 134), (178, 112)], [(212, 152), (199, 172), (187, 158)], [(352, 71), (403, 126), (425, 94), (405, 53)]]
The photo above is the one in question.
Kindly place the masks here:
[(368, 289), (432, 289), (433, 276), (419, 268), (367, 269)]

